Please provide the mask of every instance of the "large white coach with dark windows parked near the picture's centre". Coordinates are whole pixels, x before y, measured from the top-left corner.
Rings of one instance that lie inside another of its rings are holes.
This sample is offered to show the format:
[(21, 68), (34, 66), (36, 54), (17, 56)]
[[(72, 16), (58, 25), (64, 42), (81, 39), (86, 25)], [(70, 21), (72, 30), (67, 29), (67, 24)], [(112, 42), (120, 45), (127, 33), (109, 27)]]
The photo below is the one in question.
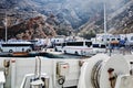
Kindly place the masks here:
[(91, 47), (91, 41), (66, 42), (62, 48), (63, 53), (75, 55), (92, 55), (93, 47)]

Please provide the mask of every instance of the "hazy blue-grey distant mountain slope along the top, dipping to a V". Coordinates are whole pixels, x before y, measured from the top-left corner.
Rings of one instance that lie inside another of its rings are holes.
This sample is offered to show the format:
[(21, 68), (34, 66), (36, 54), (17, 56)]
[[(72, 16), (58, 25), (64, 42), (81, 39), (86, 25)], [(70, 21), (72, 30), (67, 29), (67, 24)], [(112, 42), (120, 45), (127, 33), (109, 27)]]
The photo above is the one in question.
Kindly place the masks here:
[[(92, 18), (101, 14), (106, 0), (1, 0), (0, 9), (17, 11), (38, 11), (41, 14), (61, 15), (65, 21), (78, 29)], [(108, 0), (108, 12), (113, 12), (129, 0)]]

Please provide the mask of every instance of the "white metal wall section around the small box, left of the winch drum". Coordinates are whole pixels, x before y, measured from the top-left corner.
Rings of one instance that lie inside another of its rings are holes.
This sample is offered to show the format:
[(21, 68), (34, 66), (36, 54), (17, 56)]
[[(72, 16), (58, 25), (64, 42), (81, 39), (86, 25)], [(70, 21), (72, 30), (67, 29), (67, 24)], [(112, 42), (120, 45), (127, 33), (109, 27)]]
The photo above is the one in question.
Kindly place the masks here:
[(76, 86), (79, 81), (79, 76), (80, 76), (80, 66), (79, 66), (79, 59), (53, 59), (53, 65), (54, 65), (54, 87), (53, 88), (62, 88), (60, 85), (57, 82), (57, 63), (59, 62), (65, 62), (69, 64), (69, 73), (65, 75), (65, 81), (64, 81), (64, 87), (71, 87), (71, 86)]

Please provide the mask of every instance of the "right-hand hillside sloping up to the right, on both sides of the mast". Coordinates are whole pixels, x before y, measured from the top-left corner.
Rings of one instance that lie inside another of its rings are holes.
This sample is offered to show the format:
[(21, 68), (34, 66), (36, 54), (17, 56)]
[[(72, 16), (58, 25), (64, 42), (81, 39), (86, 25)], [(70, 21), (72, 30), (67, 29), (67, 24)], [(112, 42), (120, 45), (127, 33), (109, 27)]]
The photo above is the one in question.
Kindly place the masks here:
[[(103, 12), (103, 11), (102, 11)], [(80, 36), (90, 38), (96, 33), (103, 33), (104, 19), (103, 13), (94, 16), (94, 20), (86, 22), (80, 28)], [(108, 33), (125, 34), (133, 33), (133, 1), (126, 2), (123, 7), (112, 13), (106, 10)]]

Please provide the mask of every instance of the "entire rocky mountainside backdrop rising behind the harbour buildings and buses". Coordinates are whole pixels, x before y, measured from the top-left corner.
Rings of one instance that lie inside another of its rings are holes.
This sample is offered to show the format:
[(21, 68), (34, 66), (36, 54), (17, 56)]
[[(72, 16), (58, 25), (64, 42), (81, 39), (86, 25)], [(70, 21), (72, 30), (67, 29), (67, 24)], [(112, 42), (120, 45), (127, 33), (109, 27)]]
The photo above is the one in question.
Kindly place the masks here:
[[(30, 40), (54, 36), (55, 34), (70, 35), (74, 31), (78, 31), (81, 35), (84, 35), (84, 33), (88, 35), (90, 30), (91, 33), (101, 33), (103, 32), (104, 1), (106, 0), (1, 0), (0, 37), (4, 38), (3, 22), (6, 13), (8, 14), (8, 38)], [(121, 31), (124, 28), (132, 29), (132, 21), (130, 20), (132, 16), (126, 16), (130, 15), (126, 12), (125, 15), (121, 15), (122, 12), (116, 12), (127, 2), (131, 2), (131, 0), (108, 0), (105, 2), (108, 6), (106, 13), (110, 14), (108, 18), (110, 19), (108, 21), (109, 32), (122, 33)], [(123, 20), (119, 20), (120, 16), (124, 16)], [(123, 23), (120, 24), (119, 21)], [(125, 22), (127, 23), (125, 24)], [(122, 26), (123, 24), (125, 25)]]

